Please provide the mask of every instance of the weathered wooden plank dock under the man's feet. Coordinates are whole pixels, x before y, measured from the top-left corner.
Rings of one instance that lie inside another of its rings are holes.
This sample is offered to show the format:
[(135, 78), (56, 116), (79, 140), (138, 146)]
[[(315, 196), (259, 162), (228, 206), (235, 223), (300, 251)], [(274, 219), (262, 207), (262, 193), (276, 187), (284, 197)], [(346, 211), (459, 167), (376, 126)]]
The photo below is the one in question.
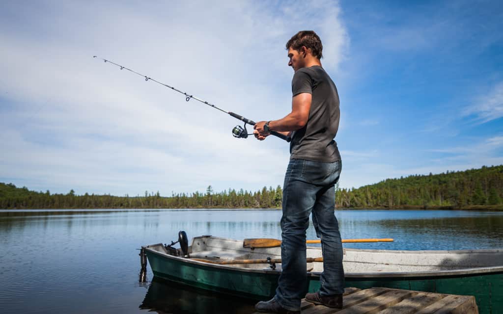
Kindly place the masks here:
[(315, 305), (305, 299), (301, 308), (302, 314), (478, 314), (471, 295), (390, 288), (346, 288), (343, 308)]

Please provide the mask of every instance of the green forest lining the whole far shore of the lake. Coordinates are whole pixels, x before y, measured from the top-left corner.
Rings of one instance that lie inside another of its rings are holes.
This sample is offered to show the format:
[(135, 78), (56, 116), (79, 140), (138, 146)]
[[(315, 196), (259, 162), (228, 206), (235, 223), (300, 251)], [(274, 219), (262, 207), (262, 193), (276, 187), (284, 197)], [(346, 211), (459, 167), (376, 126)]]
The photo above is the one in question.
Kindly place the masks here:
[[(0, 183), (0, 208), (281, 208), (282, 188), (264, 186), (258, 191), (229, 188), (205, 193), (144, 195), (76, 195), (36, 192), (26, 186)], [(386, 179), (359, 188), (337, 189), (338, 208), (424, 208), (503, 210), (503, 165), (441, 174)]]

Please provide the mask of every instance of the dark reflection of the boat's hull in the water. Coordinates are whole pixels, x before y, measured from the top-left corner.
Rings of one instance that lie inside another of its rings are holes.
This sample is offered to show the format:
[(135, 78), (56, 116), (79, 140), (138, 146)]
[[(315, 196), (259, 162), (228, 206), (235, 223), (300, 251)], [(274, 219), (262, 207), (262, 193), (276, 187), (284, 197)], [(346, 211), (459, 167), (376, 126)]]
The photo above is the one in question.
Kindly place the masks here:
[(256, 301), (153, 278), (139, 308), (157, 313), (213, 314), (255, 312)]

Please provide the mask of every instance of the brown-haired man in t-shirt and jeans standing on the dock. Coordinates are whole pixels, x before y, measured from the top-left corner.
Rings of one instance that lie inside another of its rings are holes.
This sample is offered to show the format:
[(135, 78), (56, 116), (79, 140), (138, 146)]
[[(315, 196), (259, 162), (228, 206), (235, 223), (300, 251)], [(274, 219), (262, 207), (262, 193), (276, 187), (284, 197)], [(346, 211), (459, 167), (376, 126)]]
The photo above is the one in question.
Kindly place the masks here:
[(341, 308), (344, 293), (343, 248), (334, 215), (335, 188), (341, 156), (333, 140), (339, 128), (339, 95), (321, 67), (321, 40), (313, 31), (300, 31), (286, 44), (292, 79), (292, 112), (285, 118), (261, 121), (254, 127), (258, 140), (270, 131), (290, 135), (290, 163), (283, 185), (281, 266), (276, 295), (257, 303), (262, 312), (299, 313), (307, 290), (306, 229), (312, 213), (321, 239), (323, 273), (320, 289), (306, 300)]

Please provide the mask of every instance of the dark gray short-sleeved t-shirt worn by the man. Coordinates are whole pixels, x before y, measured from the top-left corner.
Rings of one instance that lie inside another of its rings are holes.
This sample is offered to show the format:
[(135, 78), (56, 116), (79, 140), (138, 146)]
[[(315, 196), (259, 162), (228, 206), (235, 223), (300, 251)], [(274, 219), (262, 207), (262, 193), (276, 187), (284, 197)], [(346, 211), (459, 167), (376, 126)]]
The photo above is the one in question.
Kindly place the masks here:
[(292, 94), (310, 93), (311, 108), (307, 124), (292, 134), (291, 159), (321, 162), (341, 160), (334, 141), (339, 129), (339, 94), (336, 84), (318, 65), (304, 67), (293, 75)]

